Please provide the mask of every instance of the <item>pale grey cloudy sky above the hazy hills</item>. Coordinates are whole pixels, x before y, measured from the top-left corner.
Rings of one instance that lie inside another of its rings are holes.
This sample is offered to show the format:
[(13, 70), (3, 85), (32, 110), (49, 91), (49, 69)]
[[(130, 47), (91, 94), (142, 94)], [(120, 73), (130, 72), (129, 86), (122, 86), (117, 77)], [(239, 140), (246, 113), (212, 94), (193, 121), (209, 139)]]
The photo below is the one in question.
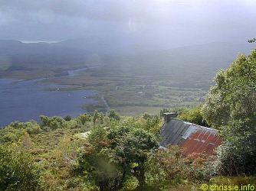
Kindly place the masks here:
[(246, 41), (256, 36), (255, 8), (255, 0), (0, 0), (0, 39)]

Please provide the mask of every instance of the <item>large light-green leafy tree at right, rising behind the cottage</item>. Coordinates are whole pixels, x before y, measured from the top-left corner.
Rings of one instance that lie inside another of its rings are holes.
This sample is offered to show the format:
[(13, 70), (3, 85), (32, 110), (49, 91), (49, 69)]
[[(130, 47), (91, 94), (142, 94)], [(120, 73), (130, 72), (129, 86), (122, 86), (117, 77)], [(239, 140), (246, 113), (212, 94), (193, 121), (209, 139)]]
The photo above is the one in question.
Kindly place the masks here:
[(209, 125), (216, 128), (228, 121), (253, 118), (256, 112), (256, 50), (246, 57), (240, 55), (228, 70), (215, 76), (205, 98), (202, 114)]

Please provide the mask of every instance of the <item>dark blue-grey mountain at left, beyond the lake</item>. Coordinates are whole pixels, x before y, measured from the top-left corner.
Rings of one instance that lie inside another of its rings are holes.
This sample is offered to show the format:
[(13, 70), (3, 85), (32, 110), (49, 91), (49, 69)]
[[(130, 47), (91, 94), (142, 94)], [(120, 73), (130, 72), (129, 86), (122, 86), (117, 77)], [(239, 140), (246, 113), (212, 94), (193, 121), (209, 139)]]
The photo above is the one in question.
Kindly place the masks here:
[(103, 49), (107, 50), (107, 47), (100, 47), (99, 44), (92, 47), (91, 42), (87, 44), (80, 40), (65, 40), (60, 43), (22, 43), (18, 40), (0, 40), (0, 60), (7, 59), (11, 62), (11, 66), (14, 67), (9, 69), (21, 66), (72, 68), (84, 64), (99, 64), (106, 53)]

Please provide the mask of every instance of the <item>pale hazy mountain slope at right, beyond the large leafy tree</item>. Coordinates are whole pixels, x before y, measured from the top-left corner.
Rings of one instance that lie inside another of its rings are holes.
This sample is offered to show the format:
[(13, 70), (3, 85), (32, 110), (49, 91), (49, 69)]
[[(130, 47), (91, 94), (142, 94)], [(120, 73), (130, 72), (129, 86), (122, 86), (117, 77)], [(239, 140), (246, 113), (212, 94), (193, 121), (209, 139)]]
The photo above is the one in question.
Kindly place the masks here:
[[(148, 53), (133, 53), (113, 58), (112, 63), (123, 63), (126, 68), (150, 66), (152, 73), (171, 73), (177, 70), (204, 70), (212, 71), (224, 69), (235, 60), (238, 53), (248, 54), (256, 44), (214, 42), (186, 47), (177, 47), (170, 50), (156, 50)], [(145, 70), (146, 70), (145, 68)], [(147, 71), (149, 73), (149, 71)]]

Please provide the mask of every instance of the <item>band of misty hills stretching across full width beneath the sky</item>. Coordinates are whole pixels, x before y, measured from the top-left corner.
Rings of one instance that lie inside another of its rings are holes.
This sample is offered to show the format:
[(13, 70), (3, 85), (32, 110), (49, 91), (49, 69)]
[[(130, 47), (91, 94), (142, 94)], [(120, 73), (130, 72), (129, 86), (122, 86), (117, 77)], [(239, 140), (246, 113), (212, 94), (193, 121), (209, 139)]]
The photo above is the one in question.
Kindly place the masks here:
[[(111, 39), (84, 38), (58, 43), (22, 43), (0, 40), (0, 65), (4, 70), (52, 70), (108, 64), (136, 73), (138, 66), (152, 66), (162, 72), (172, 70), (218, 70), (227, 67), (238, 53), (249, 53), (254, 44), (214, 42), (169, 50), (147, 47), (143, 42), (123, 44)], [(158, 68), (158, 69), (157, 69)], [(2, 70), (3, 70), (2, 69)], [(152, 70), (155, 73), (156, 70)], [(150, 70), (146, 70), (150, 73)]]

